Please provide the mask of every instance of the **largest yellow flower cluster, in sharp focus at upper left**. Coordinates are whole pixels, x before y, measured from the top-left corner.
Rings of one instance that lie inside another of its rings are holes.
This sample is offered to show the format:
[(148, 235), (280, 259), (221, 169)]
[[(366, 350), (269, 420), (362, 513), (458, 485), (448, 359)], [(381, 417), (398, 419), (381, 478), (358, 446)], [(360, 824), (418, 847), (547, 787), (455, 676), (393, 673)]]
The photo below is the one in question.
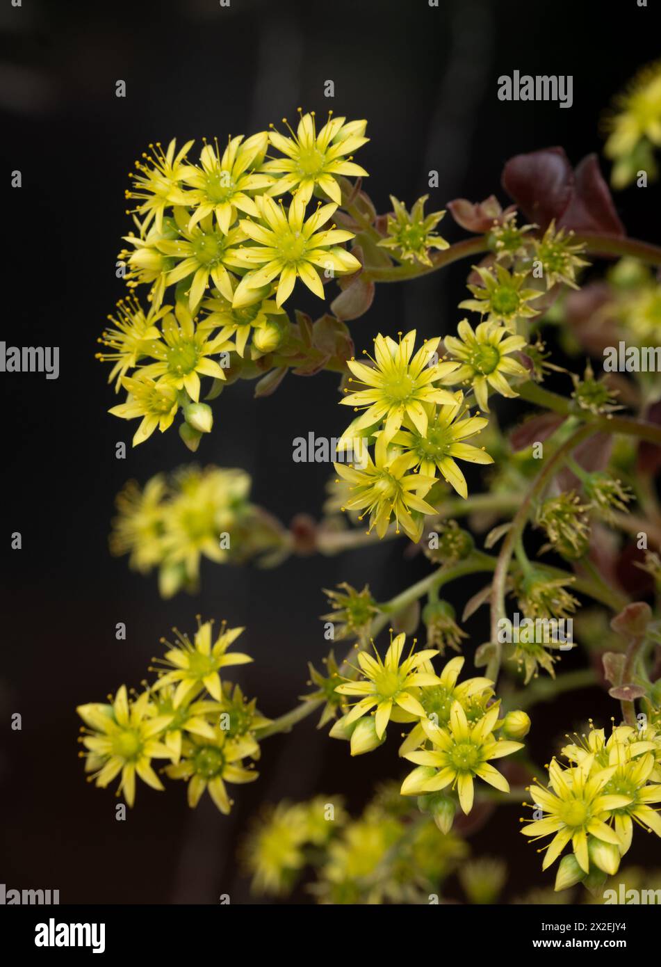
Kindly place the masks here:
[[(213, 423), (199, 401), (200, 377), (217, 381), (216, 395), (231, 353), (243, 358), (250, 335), (252, 360), (285, 341), (282, 305), (297, 279), (323, 299), (324, 280), (359, 270), (344, 247), (353, 232), (332, 217), (342, 200), (337, 178), (367, 175), (352, 161), (367, 141), (365, 127), (330, 115), (317, 131), (314, 113), (301, 112), (291, 137), (238, 135), (222, 150), (217, 140), (205, 142), (198, 163), (189, 160), (192, 141), (177, 150), (172, 140), (136, 161), (127, 191), (136, 230), (119, 259), (129, 288), (149, 286), (151, 305), (145, 311), (134, 296), (120, 302), (99, 354), (113, 364), (110, 381), (128, 393), (110, 412), (141, 419), (134, 446), (166, 430), (181, 408), (181, 432), (194, 449)], [(270, 149), (283, 157), (268, 156)], [(323, 200), (308, 210), (314, 191)], [(285, 192), (288, 207), (273, 200)]]

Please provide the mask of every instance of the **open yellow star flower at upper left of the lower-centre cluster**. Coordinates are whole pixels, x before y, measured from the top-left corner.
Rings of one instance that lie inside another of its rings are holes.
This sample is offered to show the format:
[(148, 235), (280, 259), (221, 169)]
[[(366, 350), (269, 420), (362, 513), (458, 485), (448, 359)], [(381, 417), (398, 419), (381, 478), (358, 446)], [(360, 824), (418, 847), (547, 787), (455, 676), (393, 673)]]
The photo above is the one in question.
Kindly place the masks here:
[(384, 659), (381, 659), (376, 648), (374, 658), (366, 652), (358, 653), (359, 681), (347, 680), (335, 689), (340, 695), (359, 696), (346, 717), (347, 725), (376, 707), (374, 723), (377, 737), (381, 739), (396, 708), (414, 717), (424, 715), (424, 709), (415, 697), (414, 689), (425, 685), (438, 685), (439, 679), (432, 672), (421, 672), (418, 669), (422, 662), (432, 658), (437, 652), (433, 649), (415, 652), (414, 638), (408, 657), (402, 660), (405, 644), (405, 634), (398, 634), (394, 638), (390, 635), (390, 645)]

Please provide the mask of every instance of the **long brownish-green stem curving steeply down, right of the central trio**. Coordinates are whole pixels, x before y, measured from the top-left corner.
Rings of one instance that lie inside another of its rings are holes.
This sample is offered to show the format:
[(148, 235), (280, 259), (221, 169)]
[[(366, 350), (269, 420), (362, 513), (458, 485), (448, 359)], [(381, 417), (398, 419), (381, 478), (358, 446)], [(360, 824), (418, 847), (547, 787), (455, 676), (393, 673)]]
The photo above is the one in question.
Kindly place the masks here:
[(547, 484), (554, 477), (556, 472), (560, 470), (560, 466), (564, 461), (567, 454), (570, 454), (575, 447), (583, 442), (591, 433), (595, 430), (591, 425), (582, 426), (577, 429), (569, 437), (561, 447), (558, 448), (555, 454), (549, 459), (543, 470), (537, 475), (532, 486), (528, 490), (528, 493), (524, 497), (521, 506), (517, 513), (514, 514), (514, 519), (512, 520), (512, 526), (507, 531), (503, 545), (501, 547), (501, 553), (498, 556), (498, 563), (496, 565), (496, 571), (494, 572), (494, 580), (491, 589), (491, 644), (494, 648), (494, 654), (489, 660), (489, 664), (486, 670), (486, 677), (490, 678), (493, 682), (496, 682), (498, 678), (498, 673), (501, 669), (501, 661), (503, 659), (503, 646), (498, 640), (499, 622), (506, 616), (505, 615), (505, 582), (507, 580), (507, 572), (509, 571), (509, 564), (512, 559), (512, 553), (516, 542), (523, 534), (524, 528), (528, 522), (528, 518), (532, 511), (532, 505), (536, 497), (544, 490)]

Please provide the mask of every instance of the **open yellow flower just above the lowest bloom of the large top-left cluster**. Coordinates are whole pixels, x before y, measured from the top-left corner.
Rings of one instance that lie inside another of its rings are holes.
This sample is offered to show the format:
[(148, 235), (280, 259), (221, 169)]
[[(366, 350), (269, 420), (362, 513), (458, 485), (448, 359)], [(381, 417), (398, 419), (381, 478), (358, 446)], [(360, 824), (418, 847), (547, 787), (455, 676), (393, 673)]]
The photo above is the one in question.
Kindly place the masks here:
[(176, 390), (186, 390), (198, 402), (200, 376), (224, 380), (224, 369), (212, 357), (220, 353), (227, 356), (235, 348), (234, 343), (223, 331), (210, 336), (208, 330), (196, 324), (187, 306), (179, 302), (174, 313), (168, 312), (162, 318), (160, 329), (145, 347), (146, 354), (158, 362), (142, 366), (142, 375)]

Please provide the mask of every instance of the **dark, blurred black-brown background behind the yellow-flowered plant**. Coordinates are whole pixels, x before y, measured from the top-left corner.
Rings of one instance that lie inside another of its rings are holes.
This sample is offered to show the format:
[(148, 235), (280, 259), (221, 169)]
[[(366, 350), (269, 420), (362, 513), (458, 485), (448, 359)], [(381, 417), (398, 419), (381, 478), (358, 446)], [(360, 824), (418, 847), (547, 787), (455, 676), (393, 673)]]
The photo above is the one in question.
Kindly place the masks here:
[[(295, 117), (300, 104), (319, 116), (331, 107), (368, 120), (371, 141), (358, 161), (370, 172), (365, 187), (379, 210), (388, 210), (388, 193), (411, 204), (429, 191), (432, 211), (450, 198), (480, 200), (492, 191), (504, 202), (500, 175), (511, 155), (561, 144), (576, 162), (601, 150), (603, 109), (658, 56), (654, 16), (635, 0), (606, 10), (568, 0), (441, 0), (438, 9), (427, 0), (2, 5), (3, 169), (6, 186), (20, 169), (22, 188), (5, 192), (1, 338), (61, 352), (57, 381), (38, 373), (1, 378), (0, 880), (8, 888), (56, 888), (61, 902), (216, 902), (226, 893), (249, 902), (236, 849), (262, 802), (342, 792), (357, 812), (374, 781), (399, 775), (401, 765), (391, 743), (352, 760), (311, 718), (268, 741), (260, 779), (237, 787), (228, 817), (208, 797), (189, 810), (184, 783), (165, 793), (139, 784), (128, 821), (117, 822), (112, 793), (85, 782), (75, 706), (102, 701), (122, 683), (137, 685), (173, 625), (192, 630), (197, 612), (246, 625), (242, 644), (255, 661), (239, 678), (275, 717), (305, 690), (306, 660), (319, 664), (326, 654), (322, 587), (368, 581), (383, 601), (429, 567), (421, 556), (405, 559), (402, 543), (294, 559), (277, 571), (205, 564), (197, 598), (161, 601), (155, 578), (109, 556), (121, 485), (193, 459), (173, 428), (117, 460), (116, 442), (129, 444), (135, 425), (107, 415), (117, 400), (94, 360), (106, 314), (124, 292), (115, 262), (129, 227), (124, 190), (132, 161), (151, 140), (222, 140)], [(515, 69), (573, 74), (572, 108), (500, 102), (497, 78)], [(115, 97), (118, 79), (127, 82), (125, 99)], [(327, 79), (332, 101), (324, 98)], [(439, 171), (438, 189), (427, 188), (430, 169)], [(618, 195), (632, 235), (658, 241), (659, 198), (658, 188)], [(449, 216), (441, 231), (451, 241), (464, 235)], [(352, 324), (357, 350), (378, 331), (451, 332), (467, 268), (379, 288), (369, 313)], [(298, 295), (294, 305), (318, 312)], [(285, 521), (298, 512), (318, 516), (329, 468), (292, 463), (291, 441), (311, 429), (327, 436), (342, 429), (336, 384), (329, 373), (290, 376), (268, 400), (254, 400), (251, 384), (236, 385), (216, 402), (215, 430), (198, 462), (244, 467), (253, 499)], [(21, 550), (10, 549), (14, 531)], [(458, 609), (480, 584), (451, 586)], [(126, 641), (115, 639), (119, 621)], [(469, 673), (483, 622), (469, 626)], [(563, 661), (578, 667), (585, 658), (572, 653)], [(548, 761), (566, 731), (613, 711), (596, 690), (539, 706), (532, 756)], [(15, 712), (19, 732), (11, 730)], [(540, 859), (518, 833), (520, 811), (504, 806), (472, 841), (475, 854), (506, 856), (506, 897), (541, 884)], [(635, 838), (628, 860), (641, 863), (649, 840)]]

